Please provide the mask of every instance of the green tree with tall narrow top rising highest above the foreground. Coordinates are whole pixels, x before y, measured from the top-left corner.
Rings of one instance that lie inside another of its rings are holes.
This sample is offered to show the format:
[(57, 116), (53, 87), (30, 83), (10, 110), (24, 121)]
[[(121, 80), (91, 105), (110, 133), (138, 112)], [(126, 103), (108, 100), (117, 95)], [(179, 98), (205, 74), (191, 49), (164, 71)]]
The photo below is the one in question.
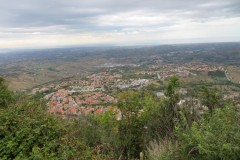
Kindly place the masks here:
[(144, 97), (143, 120), (146, 128), (147, 143), (152, 139), (174, 138), (174, 121), (178, 118), (179, 80), (172, 77), (165, 91), (165, 98), (159, 99), (148, 94)]

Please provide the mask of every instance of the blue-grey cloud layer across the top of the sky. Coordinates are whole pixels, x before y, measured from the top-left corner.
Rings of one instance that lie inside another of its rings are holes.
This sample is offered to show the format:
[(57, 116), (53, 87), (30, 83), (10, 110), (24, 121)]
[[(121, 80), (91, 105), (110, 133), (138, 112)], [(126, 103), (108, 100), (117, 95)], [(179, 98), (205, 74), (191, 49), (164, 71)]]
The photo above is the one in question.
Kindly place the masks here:
[[(240, 16), (239, 0), (0, 0), (0, 4), (0, 26), (29, 28), (29, 31), (34, 31), (35, 27), (59, 26), (54, 30), (43, 30), (49, 33), (121, 31), (129, 23), (100, 25), (99, 19), (133, 11), (191, 21)], [(154, 25), (165, 27), (174, 23)]]

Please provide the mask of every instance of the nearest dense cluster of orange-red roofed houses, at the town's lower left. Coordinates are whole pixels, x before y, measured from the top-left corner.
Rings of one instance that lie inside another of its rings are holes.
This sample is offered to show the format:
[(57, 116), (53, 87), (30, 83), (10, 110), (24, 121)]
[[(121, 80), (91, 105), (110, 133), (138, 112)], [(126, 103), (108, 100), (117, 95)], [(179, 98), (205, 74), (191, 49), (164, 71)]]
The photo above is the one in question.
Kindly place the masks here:
[(76, 94), (67, 89), (60, 89), (44, 98), (48, 100), (49, 113), (76, 116), (105, 112), (117, 102), (114, 97), (102, 92)]

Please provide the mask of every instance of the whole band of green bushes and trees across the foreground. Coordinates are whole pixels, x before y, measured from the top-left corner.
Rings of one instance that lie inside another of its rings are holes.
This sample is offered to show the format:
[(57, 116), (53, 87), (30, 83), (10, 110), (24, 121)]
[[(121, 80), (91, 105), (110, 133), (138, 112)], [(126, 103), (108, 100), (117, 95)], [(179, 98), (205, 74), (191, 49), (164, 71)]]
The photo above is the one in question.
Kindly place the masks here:
[(170, 78), (162, 98), (146, 89), (120, 91), (120, 119), (114, 110), (63, 119), (47, 113), (41, 97), (9, 91), (1, 78), (0, 159), (240, 159), (234, 103), (202, 86), (179, 106), (180, 86)]

